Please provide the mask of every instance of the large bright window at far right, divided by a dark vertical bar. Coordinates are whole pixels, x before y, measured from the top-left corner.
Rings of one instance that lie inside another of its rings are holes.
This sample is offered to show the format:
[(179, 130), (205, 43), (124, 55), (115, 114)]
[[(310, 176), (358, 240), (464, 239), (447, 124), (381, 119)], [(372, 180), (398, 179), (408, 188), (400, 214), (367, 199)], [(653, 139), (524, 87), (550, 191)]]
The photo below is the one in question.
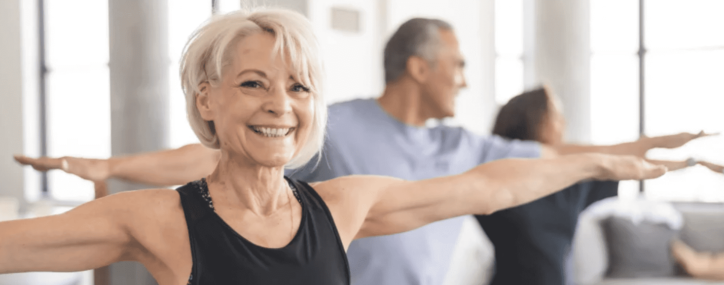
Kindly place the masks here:
[[(718, 115), (724, 103), (718, 86), (724, 78), (724, 19), (717, 15), (723, 9), (717, 0), (591, 1), (594, 143), (634, 140), (639, 132), (724, 130)], [(724, 137), (649, 152), (654, 159), (690, 156), (724, 163)], [(724, 176), (702, 166), (644, 186), (653, 199), (724, 202)]]

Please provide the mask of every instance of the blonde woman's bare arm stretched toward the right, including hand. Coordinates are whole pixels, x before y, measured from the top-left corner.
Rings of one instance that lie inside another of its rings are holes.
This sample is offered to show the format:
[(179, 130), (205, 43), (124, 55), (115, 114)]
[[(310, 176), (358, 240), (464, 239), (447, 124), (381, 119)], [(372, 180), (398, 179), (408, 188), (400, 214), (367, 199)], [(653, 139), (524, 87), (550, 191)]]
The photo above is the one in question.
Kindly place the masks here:
[[(454, 176), (416, 182), (387, 176), (343, 176), (320, 182), (325, 200), (345, 216), (350, 240), (395, 234), (445, 218), (489, 214), (550, 195), (583, 179), (649, 179), (661, 176), (635, 156), (583, 153), (549, 159), (508, 158)], [(340, 227), (340, 225), (338, 225)]]

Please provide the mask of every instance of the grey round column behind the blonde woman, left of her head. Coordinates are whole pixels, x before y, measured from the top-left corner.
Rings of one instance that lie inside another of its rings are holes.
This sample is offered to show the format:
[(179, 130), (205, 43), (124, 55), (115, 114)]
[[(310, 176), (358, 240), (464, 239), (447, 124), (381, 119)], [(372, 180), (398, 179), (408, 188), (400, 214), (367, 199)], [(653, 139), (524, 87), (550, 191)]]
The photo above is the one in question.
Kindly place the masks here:
[[(167, 1), (109, 1), (111, 153), (122, 156), (168, 145)], [(148, 188), (112, 181), (111, 193)], [(111, 284), (156, 284), (138, 263), (111, 265)]]

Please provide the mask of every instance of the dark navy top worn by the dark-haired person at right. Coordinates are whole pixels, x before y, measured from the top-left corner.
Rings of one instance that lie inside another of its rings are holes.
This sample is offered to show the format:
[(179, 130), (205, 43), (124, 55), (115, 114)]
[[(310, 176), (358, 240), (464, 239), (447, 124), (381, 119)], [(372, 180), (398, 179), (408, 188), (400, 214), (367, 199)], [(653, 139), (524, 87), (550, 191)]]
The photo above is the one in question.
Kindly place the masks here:
[(490, 285), (562, 285), (578, 215), (618, 193), (618, 182), (581, 182), (531, 203), (476, 216), (495, 247)]

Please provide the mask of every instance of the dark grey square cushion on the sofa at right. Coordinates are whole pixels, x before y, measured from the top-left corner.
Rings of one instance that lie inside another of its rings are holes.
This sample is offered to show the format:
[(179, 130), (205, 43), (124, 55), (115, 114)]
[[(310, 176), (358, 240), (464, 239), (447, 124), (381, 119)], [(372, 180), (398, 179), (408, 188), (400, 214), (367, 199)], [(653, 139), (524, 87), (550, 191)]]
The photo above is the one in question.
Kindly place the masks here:
[(666, 224), (612, 216), (601, 222), (608, 249), (607, 278), (675, 276), (670, 242), (677, 231)]

